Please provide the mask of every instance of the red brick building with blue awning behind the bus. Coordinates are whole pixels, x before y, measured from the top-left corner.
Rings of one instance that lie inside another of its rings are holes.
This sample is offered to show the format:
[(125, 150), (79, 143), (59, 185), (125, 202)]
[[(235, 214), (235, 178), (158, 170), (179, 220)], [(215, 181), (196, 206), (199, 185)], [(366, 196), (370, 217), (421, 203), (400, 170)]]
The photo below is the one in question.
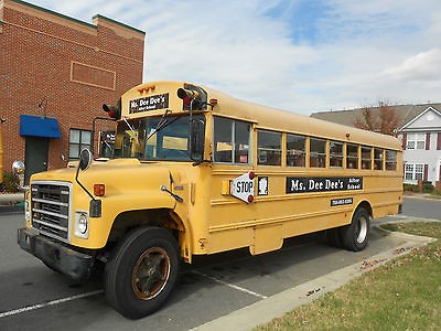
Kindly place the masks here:
[[(28, 179), (77, 159), (92, 145), (93, 119), (106, 116), (103, 104), (116, 104), (142, 82), (144, 36), (103, 15), (89, 24), (24, 1), (0, 0), (4, 170), (24, 160)], [(111, 127), (96, 121), (97, 131)]]

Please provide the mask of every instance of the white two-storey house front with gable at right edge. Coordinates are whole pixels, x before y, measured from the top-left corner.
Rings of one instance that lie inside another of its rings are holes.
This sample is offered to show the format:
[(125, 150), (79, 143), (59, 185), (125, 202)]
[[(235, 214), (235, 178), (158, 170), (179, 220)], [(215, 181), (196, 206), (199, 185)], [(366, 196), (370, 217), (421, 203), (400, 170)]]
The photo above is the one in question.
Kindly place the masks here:
[(397, 130), (402, 141), (405, 183), (441, 181), (441, 111), (430, 106)]

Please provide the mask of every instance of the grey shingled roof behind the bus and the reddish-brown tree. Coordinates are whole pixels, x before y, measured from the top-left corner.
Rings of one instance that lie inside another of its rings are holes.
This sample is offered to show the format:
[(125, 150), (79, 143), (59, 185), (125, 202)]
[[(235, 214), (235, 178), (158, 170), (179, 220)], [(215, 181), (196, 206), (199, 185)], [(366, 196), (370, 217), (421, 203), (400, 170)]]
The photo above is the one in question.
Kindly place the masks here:
[[(429, 107), (432, 107), (437, 111), (441, 110), (441, 103), (438, 104), (422, 104), (422, 105), (395, 105), (389, 106), (394, 109), (396, 117), (398, 118), (397, 129), (401, 128), (418, 115), (423, 113)], [(348, 109), (348, 110), (335, 110), (335, 111), (320, 111), (320, 113), (312, 113), (311, 117), (342, 124), (345, 126), (354, 126), (356, 119), (363, 119), (363, 110), (365, 108), (356, 108), (356, 109)], [(373, 115), (378, 115), (379, 107), (372, 108)]]

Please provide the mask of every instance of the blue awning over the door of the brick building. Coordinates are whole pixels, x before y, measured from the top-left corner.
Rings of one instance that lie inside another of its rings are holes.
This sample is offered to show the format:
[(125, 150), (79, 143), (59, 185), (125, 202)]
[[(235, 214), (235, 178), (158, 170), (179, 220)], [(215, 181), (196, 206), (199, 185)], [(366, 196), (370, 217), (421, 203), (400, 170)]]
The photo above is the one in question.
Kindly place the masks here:
[(62, 138), (55, 118), (20, 115), (20, 136)]

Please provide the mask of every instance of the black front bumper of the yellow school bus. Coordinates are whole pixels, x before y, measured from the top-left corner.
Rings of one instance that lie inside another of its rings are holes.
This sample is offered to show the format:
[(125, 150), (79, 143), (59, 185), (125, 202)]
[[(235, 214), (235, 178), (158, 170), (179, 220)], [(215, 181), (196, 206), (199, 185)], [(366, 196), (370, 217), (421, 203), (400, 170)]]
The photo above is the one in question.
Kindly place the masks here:
[(22, 249), (74, 280), (85, 280), (90, 276), (95, 263), (92, 255), (76, 252), (26, 227), (19, 228), (18, 242)]

